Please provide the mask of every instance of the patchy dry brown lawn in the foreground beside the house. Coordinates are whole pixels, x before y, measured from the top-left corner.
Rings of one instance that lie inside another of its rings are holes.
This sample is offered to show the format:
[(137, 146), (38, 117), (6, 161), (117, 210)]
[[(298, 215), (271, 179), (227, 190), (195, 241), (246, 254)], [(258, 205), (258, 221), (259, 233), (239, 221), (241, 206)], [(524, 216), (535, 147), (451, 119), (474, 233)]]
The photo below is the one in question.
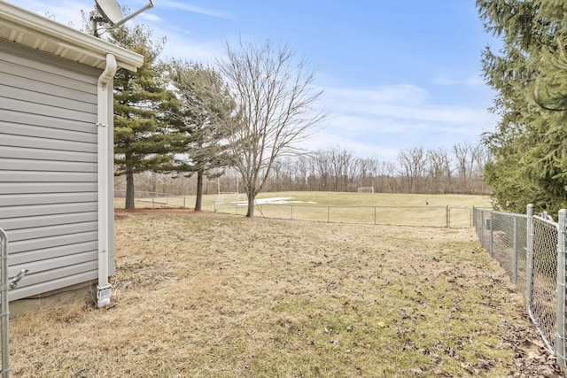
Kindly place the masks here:
[(517, 372), (531, 325), (469, 229), (119, 215), (112, 305), (12, 320), (13, 376)]

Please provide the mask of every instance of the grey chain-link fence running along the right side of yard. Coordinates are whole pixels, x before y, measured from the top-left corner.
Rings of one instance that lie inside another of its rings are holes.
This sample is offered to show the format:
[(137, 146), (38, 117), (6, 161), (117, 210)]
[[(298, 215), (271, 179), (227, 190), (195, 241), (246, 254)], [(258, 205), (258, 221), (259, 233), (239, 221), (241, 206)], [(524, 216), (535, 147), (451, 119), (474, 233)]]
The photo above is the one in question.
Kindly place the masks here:
[(480, 243), (524, 293), (526, 311), (557, 364), (565, 367), (565, 225), (547, 213), (527, 214), (473, 209)]

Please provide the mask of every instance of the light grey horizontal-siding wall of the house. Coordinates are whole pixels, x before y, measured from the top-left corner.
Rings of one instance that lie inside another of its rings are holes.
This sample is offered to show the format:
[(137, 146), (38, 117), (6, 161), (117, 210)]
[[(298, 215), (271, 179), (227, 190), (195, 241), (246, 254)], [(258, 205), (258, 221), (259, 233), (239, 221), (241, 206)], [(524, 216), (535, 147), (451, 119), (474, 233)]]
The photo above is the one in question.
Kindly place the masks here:
[[(29, 270), (10, 300), (97, 279), (100, 73), (0, 39), (0, 228), (9, 239), (9, 276)], [(108, 101), (112, 109), (112, 91)], [(109, 214), (112, 275), (113, 208)]]

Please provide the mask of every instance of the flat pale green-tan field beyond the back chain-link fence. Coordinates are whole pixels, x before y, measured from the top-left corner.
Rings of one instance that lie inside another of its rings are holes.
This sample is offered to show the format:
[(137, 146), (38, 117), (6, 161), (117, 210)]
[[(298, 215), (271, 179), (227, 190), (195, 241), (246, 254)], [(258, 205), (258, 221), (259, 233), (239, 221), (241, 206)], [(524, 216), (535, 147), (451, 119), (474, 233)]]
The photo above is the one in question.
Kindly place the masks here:
[[(256, 216), (333, 223), (434, 227), (448, 224), (451, 228), (470, 227), (472, 206), (491, 207), (490, 197), (468, 195), (270, 192), (257, 197), (259, 202), (269, 198), (285, 200), (277, 204), (257, 204)], [(203, 211), (244, 215), (245, 201), (244, 194), (209, 195), (203, 198)], [(193, 208), (194, 205), (194, 196), (139, 198), (136, 201), (138, 209)], [(117, 198), (115, 206), (123, 208), (124, 200)]]

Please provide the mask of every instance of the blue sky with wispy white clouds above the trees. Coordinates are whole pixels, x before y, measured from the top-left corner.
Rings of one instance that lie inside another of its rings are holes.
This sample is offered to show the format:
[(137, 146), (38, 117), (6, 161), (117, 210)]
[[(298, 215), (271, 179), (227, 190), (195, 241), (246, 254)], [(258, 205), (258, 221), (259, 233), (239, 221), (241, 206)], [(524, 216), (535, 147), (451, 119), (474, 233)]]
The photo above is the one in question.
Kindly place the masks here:
[[(13, 0), (8, 2), (16, 3)], [(19, 3), (19, 2), (18, 2)], [(81, 26), (92, 0), (28, 0), (19, 6)], [(133, 11), (147, 2), (119, 0)], [(497, 117), (481, 76), (480, 53), (493, 44), (474, 0), (154, 0), (138, 16), (163, 57), (214, 64), (224, 41), (287, 43), (315, 70), (330, 117), (311, 149), (341, 148), (361, 158), (396, 160), (415, 147), (451, 150), (478, 143)]]

